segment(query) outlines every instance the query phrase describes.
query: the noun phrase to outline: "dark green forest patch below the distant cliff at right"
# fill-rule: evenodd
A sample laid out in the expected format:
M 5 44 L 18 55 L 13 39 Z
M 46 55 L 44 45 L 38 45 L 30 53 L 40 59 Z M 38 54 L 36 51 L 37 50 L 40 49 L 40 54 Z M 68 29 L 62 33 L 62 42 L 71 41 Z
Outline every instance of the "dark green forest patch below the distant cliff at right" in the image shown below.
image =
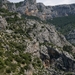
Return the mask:
M 75 29 L 75 15 L 53 18 L 51 20 L 47 20 L 47 22 L 54 24 L 57 30 L 64 35 Z

